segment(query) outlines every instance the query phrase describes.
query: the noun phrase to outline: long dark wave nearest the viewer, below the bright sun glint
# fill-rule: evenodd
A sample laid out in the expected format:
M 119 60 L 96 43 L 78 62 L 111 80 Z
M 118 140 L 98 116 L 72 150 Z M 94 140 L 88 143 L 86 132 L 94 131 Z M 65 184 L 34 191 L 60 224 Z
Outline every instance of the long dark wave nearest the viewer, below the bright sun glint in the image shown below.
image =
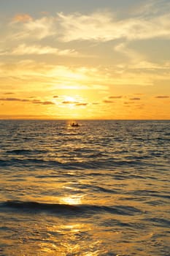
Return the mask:
M 138 208 L 132 206 L 96 206 L 96 205 L 69 205 L 61 203 L 38 203 L 34 201 L 9 200 L 0 203 L 0 208 L 15 209 L 25 213 L 38 213 L 47 211 L 53 214 L 118 214 L 133 216 L 141 213 Z

